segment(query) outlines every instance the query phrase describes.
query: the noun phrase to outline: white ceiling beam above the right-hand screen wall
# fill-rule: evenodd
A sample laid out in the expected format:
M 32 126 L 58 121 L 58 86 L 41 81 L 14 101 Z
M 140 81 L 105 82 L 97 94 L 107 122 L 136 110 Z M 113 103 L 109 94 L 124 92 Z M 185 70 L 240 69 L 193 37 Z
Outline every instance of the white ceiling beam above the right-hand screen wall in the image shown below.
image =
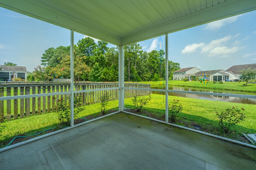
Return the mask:
M 122 45 L 143 41 L 166 33 L 180 31 L 253 10 L 256 10 L 256 0 L 228 0 L 215 6 L 204 8 L 198 12 L 122 37 Z

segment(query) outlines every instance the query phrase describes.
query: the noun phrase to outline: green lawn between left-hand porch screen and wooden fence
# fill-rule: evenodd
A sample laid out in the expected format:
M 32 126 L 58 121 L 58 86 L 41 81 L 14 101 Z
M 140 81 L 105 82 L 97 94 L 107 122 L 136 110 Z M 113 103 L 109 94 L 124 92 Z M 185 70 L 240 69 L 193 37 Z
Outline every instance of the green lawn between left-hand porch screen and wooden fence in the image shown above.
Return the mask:
M 87 117 L 87 120 L 89 120 L 101 115 L 100 103 L 82 107 L 84 110 L 78 114 L 78 117 Z M 110 101 L 108 103 L 107 110 L 118 111 L 118 100 Z M 33 135 L 54 127 L 56 130 L 58 130 L 60 129 L 58 123 L 57 112 L 40 114 L 12 121 L 5 121 L 4 123 L 0 124 L 1 126 L 5 126 L 0 129 L 2 131 L 0 133 L 1 148 L 5 147 L 16 136 Z M 43 134 L 44 133 L 41 135 Z

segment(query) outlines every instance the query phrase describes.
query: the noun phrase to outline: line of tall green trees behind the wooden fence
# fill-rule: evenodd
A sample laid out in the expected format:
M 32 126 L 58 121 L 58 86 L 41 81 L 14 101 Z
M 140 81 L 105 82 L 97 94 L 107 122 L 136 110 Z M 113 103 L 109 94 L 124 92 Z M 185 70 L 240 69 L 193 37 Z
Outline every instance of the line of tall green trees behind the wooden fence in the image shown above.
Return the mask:
M 30 81 L 51 81 L 53 78 L 70 78 L 70 46 L 49 48 L 42 54 L 41 65 L 27 76 Z M 164 51 L 142 50 L 138 43 L 124 46 L 124 80 L 158 81 L 165 79 Z M 168 61 L 169 80 L 172 72 L 180 69 L 179 63 Z M 108 47 L 105 41 L 95 43 L 86 37 L 74 45 L 74 79 L 76 81 L 118 81 L 118 49 Z

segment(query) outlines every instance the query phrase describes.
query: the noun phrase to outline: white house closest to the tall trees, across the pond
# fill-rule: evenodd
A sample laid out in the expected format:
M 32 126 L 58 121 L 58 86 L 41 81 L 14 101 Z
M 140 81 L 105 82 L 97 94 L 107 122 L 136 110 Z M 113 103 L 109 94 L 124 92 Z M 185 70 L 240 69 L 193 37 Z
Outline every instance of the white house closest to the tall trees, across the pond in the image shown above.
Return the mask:
M 173 80 L 183 80 L 185 77 L 191 80 L 191 75 L 201 71 L 196 67 L 180 68 L 172 73 Z

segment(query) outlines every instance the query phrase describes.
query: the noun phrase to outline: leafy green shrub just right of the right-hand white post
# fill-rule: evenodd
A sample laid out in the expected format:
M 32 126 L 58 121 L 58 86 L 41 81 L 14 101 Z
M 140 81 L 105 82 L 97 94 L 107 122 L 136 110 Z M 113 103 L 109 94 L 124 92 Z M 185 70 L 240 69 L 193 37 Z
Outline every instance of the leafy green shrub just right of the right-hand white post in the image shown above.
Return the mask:
M 178 100 L 173 100 L 172 104 L 168 105 L 169 122 L 175 123 L 178 113 L 182 111 L 183 107 Z

